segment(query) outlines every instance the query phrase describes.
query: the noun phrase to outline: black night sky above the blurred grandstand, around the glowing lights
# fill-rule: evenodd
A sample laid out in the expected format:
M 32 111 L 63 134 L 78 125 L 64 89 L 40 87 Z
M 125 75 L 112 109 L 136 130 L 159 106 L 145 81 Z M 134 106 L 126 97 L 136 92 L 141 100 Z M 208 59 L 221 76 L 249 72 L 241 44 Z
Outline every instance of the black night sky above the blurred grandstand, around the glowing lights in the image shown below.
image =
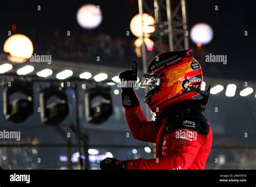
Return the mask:
M 76 21 L 80 6 L 93 3 L 103 12 L 102 24 L 95 30 L 84 30 Z M 41 5 L 41 11 L 37 10 Z M 218 11 L 214 6 L 218 5 Z M 212 26 L 214 38 L 203 46 L 206 53 L 227 55 L 227 64 L 206 64 L 205 73 L 212 77 L 228 77 L 241 80 L 255 80 L 255 1 L 187 1 L 188 28 L 199 22 Z M 40 38 L 58 28 L 66 31 L 110 34 L 111 37 L 126 37 L 130 20 L 138 13 L 138 4 L 130 1 L 1 1 L 0 2 L 0 46 L 1 51 L 11 25 L 17 25 L 17 33 L 29 38 Z M 248 36 L 244 36 L 248 31 Z M 130 37 L 131 40 L 134 37 Z M 190 47 L 195 45 L 190 41 Z M 35 46 L 36 52 L 36 46 Z M 130 59 L 129 59 L 130 60 Z M 126 63 L 126 62 L 125 62 Z M 204 62 L 201 62 L 204 63 Z M 120 66 L 120 64 L 117 64 Z M 212 67 L 211 67 L 212 66 Z

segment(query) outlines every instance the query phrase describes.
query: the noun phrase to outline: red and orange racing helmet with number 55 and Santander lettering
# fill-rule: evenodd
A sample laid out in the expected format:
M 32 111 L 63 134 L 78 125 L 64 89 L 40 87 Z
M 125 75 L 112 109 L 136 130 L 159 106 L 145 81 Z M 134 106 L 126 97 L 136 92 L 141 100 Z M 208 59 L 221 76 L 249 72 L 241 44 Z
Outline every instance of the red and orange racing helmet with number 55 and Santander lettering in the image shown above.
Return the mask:
M 149 87 L 144 103 L 153 112 L 159 112 L 172 104 L 195 100 L 199 93 L 208 100 L 210 87 L 207 92 L 200 90 L 202 83 L 200 63 L 192 56 L 192 49 L 188 49 L 154 57 L 147 73 L 143 75 L 140 87 Z

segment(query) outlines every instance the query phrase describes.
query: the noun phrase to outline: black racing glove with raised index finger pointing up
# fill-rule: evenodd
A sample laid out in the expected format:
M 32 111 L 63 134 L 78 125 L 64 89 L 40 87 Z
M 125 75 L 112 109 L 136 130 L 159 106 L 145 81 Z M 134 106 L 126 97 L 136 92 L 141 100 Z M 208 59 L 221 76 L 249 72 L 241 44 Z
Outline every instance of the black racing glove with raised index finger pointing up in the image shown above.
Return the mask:
M 138 64 L 132 61 L 132 70 L 125 70 L 119 74 L 122 87 L 122 103 L 124 107 L 132 108 L 139 106 L 139 100 L 133 88 L 138 77 Z

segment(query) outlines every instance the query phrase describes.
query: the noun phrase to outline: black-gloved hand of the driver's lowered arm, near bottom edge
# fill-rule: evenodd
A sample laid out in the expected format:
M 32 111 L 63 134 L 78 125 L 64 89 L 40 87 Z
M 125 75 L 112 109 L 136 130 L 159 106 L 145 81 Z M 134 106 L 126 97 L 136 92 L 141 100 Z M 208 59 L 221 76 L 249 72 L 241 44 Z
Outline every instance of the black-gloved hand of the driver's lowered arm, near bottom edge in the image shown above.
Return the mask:
M 126 161 L 120 161 L 117 159 L 107 157 L 100 163 L 100 169 L 102 169 L 102 170 L 126 170 Z

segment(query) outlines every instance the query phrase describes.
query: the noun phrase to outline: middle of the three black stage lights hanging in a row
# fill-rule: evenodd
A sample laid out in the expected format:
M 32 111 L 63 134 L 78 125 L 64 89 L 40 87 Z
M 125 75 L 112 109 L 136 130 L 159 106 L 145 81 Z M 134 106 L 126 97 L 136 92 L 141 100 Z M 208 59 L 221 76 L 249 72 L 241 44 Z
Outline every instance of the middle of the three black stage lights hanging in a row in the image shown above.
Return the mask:
M 50 87 L 40 90 L 39 102 L 43 124 L 59 125 L 68 116 L 69 105 L 65 91 L 65 88 L 56 85 L 50 85 Z M 53 99 L 55 102 L 52 102 Z

